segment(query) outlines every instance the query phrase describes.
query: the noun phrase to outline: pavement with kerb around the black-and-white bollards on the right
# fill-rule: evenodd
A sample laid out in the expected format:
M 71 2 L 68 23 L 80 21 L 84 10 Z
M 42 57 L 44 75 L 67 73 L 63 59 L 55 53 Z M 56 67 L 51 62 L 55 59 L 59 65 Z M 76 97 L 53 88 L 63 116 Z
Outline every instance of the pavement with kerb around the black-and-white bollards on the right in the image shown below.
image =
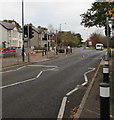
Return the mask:
M 96 73 L 74 115 L 75 120 L 100 120 L 100 88 L 103 81 L 102 69 L 104 60 L 101 61 Z M 110 119 L 114 119 L 114 50 L 110 59 Z

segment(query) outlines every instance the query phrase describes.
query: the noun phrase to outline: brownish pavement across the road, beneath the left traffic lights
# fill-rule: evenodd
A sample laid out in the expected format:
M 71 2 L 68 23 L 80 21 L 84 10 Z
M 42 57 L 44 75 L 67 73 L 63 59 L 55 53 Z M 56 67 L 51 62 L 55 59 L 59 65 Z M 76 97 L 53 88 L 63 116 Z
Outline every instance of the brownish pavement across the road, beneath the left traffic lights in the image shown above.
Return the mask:
M 22 56 L 1 58 L 2 60 L 0 61 L 2 61 L 2 71 L 6 71 L 15 67 L 21 67 L 27 64 L 33 64 L 41 61 L 55 59 L 57 57 L 62 57 L 65 55 L 66 53 L 58 53 L 58 55 L 56 55 L 54 51 L 50 51 L 46 55 L 44 54 L 43 56 L 42 53 L 30 54 L 29 58 L 27 55 L 24 57 L 24 62 L 22 61 Z

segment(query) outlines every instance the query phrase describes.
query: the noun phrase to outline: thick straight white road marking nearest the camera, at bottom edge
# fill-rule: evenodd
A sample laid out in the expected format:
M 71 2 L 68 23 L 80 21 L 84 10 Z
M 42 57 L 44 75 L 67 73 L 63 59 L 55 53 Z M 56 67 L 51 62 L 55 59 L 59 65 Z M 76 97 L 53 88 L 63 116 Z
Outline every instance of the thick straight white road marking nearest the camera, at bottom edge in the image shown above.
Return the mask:
M 62 100 L 62 104 L 61 104 L 61 108 L 59 110 L 57 120 L 62 120 L 63 115 L 64 115 L 64 111 L 65 111 L 66 102 L 67 102 L 67 97 L 64 97 Z

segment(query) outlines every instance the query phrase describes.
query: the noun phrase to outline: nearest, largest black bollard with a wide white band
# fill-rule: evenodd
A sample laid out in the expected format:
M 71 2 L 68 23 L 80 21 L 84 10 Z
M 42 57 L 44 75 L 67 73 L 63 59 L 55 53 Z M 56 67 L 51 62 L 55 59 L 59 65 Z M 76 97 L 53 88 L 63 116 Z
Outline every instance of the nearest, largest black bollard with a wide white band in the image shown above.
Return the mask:
M 110 120 L 110 88 L 108 83 L 100 83 L 100 120 Z

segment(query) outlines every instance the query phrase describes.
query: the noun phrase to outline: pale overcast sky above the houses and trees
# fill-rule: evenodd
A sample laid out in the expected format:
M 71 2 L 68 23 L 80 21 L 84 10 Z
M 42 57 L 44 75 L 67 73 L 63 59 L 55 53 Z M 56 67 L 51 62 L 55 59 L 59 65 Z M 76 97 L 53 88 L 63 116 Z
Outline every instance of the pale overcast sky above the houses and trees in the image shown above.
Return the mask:
M 81 14 L 86 13 L 95 0 L 23 0 L 24 24 L 48 28 L 51 24 L 55 30 L 80 33 L 87 38 L 93 33 L 103 33 L 102 29 L 84 28 L 80 25 Z M 22 0 L 0 0 L 0 20 L 10 19 L 22 25 Z

